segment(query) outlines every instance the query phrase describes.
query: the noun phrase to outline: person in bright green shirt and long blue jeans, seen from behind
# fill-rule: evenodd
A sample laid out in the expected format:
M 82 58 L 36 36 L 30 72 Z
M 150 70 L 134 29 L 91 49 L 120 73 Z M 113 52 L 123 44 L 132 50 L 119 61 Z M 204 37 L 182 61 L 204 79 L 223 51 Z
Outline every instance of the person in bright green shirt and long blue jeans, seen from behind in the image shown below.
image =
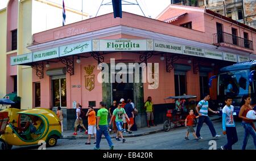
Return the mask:
M 106 107 L 106 104 L 103 101 L 101 101 L 100 109 L 97 112 L 97 132 L 96 132 L 97 138 L 96 138 L 96 147 L 94 147 L 94 150 L 100 150 L 100 142 L 101 142 L 102 134 L 104 134 L 106 140 L 108 141 L 110 150 L 114 149 L 114 145 L 111 141 L 111 138 L 108 132 L 109 111 L 105 107 Z

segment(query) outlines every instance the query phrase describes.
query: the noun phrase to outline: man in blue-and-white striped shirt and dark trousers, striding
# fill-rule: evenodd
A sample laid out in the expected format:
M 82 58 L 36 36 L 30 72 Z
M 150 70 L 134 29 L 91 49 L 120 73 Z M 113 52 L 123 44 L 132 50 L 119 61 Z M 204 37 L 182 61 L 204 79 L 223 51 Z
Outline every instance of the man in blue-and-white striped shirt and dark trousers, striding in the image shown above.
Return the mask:
M 199 139 L 203 139 L 200 136 L 200 130 L 205 122 L 209 126 L 210 132 L 212 133 L 213 138 L 220 137 L 220 135 L 216 135 L 216 130 L 213 127 L 212 121 L 210 121 L 210 118 L 208 117 L 208 111 L 213 112 L 213 113 L 218 113 L 218 111 L 213 111 L 210 109 L 208 106 L 208 100 L 210 100 L 210 95 L 209 94 L 204 94 L 204 99 L 201 100 L 197 106 L 196 106 L 196 111 L 199 114 L 199 121 L 196 127 L 196 136 Z

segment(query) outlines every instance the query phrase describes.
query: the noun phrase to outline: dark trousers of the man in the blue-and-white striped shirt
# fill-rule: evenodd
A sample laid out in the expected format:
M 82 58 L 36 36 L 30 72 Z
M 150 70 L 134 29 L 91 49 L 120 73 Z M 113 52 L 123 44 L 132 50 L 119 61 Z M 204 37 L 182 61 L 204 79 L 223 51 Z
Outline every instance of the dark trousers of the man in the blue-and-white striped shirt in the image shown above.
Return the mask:
M 209 126 L 210 132 L 212 133 L 212 137 L 216 136 L 216 131 L 213 127 L 212 121 L 210 121 L 210 118 L 208 116 L 200 116 L 199 117 L 199 121 L 197 123 L 197 127 L 196 127 L 196 136 L 200 137 L 200 130 L 203 126 L 203 124 L 207 124 Z

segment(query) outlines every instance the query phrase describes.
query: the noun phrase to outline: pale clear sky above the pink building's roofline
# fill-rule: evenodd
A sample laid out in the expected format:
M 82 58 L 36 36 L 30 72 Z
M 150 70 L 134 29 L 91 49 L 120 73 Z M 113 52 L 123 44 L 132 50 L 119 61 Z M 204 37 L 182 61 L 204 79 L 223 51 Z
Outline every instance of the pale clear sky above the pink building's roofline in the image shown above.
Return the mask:
M 6 7 L 8 0 L 0 0 L 0 10 Z M 62 5 L 62 0 L 48 0 Z M 136 0 L 125 0 L 128 2 L 137 3 Z M 168 5 L 170 5 L 171 0 L 137 0 L 141 6 L 144 14 L 151 18 L 156 18 L 161 11 L 163 11 Z M 75 9 L 83 10 L 83 12 L 88 13 L 91 16 L 96 16 L 96 13 L 101 5 L 102 0 L 64 0 L 65 6 Z M 112 2 L 111 0 L 104 0 L 104 3 Z M 125 2 L 123 2 L 125 3 Z M 81 7 L 83 6 L 83 7 Z M 123 5 L 122 10 L 126 12 L 131 12 L 133 14 L 142 15 L 141 9 L 138 5 Z M 112 6 L 101 6 L 98 15 L 107 14 L 113 12 Z

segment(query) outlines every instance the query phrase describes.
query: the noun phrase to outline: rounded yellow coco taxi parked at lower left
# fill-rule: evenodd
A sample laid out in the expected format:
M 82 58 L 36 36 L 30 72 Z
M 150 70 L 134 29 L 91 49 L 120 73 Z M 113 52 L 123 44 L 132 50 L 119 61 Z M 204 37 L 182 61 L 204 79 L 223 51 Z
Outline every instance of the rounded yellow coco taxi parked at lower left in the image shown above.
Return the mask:
M 22 111 L 9 108 L 1 112 L 9 113 L 9 124 L 0 135 L 2 149 L 11 149 L 13 145 L 38 145 L 44 142 L 48 147 L 52 147 L 61 137 L 60 120 L 49 109 L 34 108 Z

